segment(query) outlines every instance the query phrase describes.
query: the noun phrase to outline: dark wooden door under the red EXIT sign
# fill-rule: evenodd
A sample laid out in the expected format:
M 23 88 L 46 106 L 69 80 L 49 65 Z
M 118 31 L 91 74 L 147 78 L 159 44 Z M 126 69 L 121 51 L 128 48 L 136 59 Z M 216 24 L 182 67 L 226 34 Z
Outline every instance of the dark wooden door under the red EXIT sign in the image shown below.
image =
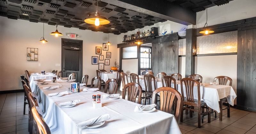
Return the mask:
M 62 77 L 75 73 L 76 82 L 81 82 L 83 74 L 83 41 L 61 39 Z

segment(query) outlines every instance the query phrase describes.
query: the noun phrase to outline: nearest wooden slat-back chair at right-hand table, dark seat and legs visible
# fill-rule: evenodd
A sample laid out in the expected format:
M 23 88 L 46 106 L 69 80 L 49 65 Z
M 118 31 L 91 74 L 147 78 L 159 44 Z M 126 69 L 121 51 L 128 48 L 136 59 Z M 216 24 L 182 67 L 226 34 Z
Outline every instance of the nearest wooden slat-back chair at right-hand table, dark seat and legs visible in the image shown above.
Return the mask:
M 194 99 L 194 84 L 197 84 L 197 100 Z M 206 103 L 204 101 L 201 101 L 201 95 L 200 95 L 200 83 L 196 79 L 192 78 L 182 78 L 180 80 L 180 86 L 181 86 L 181 94 L 183 97 L 183 104 L 185 105 L 183 109 L 190 110 L 189 114 L 190 117 L 192 117 L 192 111 L 198 112 L 198 128 L 201 128 L 201 115 L 208 114 L 208 123 L 211 123 L 211 108 L 207 107 Z M 183 84 L 185 86 L 185 90 L 183 90 Z M 184 97 L 184 91 L 186 94 L 186 98 Z M 194 107 L 197 107 L 197 109 L 194 109 Z M 204 109 L 201 111 L 202 108 L 207 108 L 206 112 L 204 112 Z M 183 111 L 183 110 L 182 110 Z M 181 114 L 180 121 L 183 120 L 183 114 Z M 203 122 L 203 120 L 202 120 Z

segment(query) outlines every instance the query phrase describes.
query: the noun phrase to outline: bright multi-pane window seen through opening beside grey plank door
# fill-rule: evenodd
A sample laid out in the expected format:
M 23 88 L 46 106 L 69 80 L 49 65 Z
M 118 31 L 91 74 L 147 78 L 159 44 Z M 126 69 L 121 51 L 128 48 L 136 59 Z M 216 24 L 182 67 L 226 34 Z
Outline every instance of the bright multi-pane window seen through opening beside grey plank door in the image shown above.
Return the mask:
M 140 48 L 140 69 L 151 69 L 151 47 Z

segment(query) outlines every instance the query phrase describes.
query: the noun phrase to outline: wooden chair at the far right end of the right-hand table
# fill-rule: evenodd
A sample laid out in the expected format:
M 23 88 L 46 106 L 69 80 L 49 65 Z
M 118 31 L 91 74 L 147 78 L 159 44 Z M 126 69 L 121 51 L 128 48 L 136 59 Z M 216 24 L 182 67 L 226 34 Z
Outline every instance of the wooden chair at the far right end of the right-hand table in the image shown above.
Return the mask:
M 216 80 L 218 80 L 220 85 L 227 85 L 227 83 L 229 82 L 229 86 L 232 86 L 232 79 L 227 76 L 215 77 L 213 82 L 216 82 Z M 228 106 L 225 108 L 222 108 L 223 103 L 225 103 L 225 102 L 227 102 L 226 104 Z M 228 103 L 228 99 L 225 97 L 225 98 L 220 99 L 219 105 L 220 105 L 220 121 L 222 121 L 222 110 L 228 109 L 228 117 L 230 117 L 230 104 Z

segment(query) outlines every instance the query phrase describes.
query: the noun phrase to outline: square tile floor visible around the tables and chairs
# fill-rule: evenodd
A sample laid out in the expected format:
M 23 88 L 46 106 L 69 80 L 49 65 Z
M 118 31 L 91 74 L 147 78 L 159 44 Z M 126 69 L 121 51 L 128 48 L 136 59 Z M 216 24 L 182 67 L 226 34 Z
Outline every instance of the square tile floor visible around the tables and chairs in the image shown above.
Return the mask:
M 28 134 L 28 105 L 26 115 L 23 115 L 24 93 L 0 94 L 0 134 Z M 227 110 L 223 111 L 222 122 L 211 115 L 211 123 L 207 123 L 207 116 L 201 128 L 197 128 L 196 112 L 193 117 L 183 115 L 183 122 L 179 124 L 182 134 L 256 134 L 256 112 L 231 108 L 230 118 Z

